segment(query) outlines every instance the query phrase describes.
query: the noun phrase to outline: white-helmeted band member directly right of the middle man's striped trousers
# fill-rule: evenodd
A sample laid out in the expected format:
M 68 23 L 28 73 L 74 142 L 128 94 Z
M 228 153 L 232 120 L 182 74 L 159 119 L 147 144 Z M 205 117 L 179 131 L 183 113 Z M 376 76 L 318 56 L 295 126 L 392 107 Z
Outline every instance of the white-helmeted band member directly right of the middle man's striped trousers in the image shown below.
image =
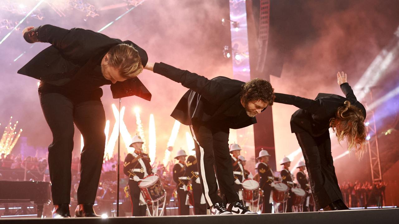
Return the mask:
M 241 147 L 238 144 L 230 145 L 231 163 L 233 163 L 233 175 L 234 175 L 234 189 L 238 193 L 238 197 L 243 202 L 243 187 L 241 183 L 245 180 L 244 178 L 244 167 L 241 164 L 241 159 L 238 158 L 240 155 Z M 242 203 L 244 204 L 244 203 Z

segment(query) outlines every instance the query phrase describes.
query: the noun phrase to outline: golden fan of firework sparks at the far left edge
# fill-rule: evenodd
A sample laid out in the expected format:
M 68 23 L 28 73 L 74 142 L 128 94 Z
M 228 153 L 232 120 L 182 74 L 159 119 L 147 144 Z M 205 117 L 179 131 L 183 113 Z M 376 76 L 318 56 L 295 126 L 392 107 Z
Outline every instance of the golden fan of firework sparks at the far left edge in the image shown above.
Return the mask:
M 18 133 L 15 131 L 18 121 L 16 121 L 14 125 L 12 125 L 11 121 L 12 117 L 10 117 L 10 120 L 7 123 L 8 125 L 4 128 L 3 136 L 0 139 L 0 153 L 6 155 L 11 153 L 22 132 L 22 129 L 20 129 Z

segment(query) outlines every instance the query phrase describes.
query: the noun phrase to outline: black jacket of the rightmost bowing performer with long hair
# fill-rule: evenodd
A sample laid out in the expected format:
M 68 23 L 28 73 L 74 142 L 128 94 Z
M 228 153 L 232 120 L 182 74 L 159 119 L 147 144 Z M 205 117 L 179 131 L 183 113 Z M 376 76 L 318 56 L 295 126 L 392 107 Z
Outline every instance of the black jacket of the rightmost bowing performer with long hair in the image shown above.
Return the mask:
M 338 107 L 349 102 L 359 108 L 366 116 L 364 106 L 356 99 L 352 88 L 348 83 L 341 84 L 341 90 L 346 97 L 336 94 L 319 93 L 315 100 L 292 96 L 288 94 L 275 93 L 277 103 L 291 104 L 298 108 L 291 116 L 291 132 L 308 132 L 312 136 L 321 136 L 330 128 L 330 119 L 335 117 Z

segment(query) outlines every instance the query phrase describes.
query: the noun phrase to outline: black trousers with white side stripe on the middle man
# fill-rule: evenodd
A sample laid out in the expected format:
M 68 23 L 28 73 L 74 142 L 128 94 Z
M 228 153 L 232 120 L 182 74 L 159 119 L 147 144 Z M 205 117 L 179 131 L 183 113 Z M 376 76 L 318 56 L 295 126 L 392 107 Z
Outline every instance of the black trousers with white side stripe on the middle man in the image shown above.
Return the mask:
M 207 208 L 217 202 L 223 202 L 217 195 L 216 177 L 225 200 L 229 203 L 239 201 L 234 189 L 233 164 L 229 153 L 229 128 L 193 124 L 190 129 L 194 138 L 199 178 Z

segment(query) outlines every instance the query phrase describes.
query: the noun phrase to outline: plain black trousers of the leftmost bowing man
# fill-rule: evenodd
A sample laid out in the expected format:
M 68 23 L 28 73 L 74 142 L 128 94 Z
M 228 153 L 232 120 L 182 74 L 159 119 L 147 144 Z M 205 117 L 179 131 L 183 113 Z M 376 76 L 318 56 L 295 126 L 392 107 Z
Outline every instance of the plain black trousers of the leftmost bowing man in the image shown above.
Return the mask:
M 53 204 L 69 204 L 74 126 L 83 135 L 78 204 L 93 203 L 105 149 L 105 112 L 98 100 L 75 103 L 59 93 L 40 94 L 44 118 L 53 134 L 49 145 L 49 171 Z

